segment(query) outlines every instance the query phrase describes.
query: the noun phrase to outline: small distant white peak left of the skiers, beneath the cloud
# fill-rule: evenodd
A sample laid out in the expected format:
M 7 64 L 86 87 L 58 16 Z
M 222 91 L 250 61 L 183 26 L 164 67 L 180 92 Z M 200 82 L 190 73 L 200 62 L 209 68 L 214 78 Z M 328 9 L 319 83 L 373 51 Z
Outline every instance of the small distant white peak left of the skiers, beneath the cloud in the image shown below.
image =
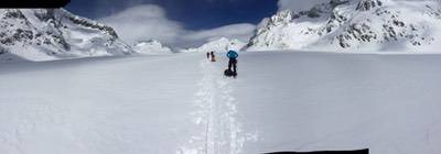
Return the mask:
M 140 54 L 171 54 L 173 50 L 155 40 L 139 41 L 133 50 Z

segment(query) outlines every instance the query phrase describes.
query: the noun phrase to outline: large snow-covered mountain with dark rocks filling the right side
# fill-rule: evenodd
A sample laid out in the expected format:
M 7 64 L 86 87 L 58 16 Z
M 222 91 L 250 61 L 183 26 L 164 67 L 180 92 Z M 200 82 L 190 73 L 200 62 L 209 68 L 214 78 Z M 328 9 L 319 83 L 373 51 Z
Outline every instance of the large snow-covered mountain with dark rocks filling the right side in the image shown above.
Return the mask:
M 265 19 L 248 51 L 435 51 L 440 1 L 330 0 Z

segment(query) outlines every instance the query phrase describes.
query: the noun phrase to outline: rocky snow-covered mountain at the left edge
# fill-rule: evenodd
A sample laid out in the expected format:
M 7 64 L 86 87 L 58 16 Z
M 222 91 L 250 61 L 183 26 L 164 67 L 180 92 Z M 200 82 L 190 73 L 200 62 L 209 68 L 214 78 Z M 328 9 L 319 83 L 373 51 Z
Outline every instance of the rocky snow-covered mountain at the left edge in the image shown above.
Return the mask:
M 133 54 L 110 26 L 64 9 L 0 9 L 0 62 Z

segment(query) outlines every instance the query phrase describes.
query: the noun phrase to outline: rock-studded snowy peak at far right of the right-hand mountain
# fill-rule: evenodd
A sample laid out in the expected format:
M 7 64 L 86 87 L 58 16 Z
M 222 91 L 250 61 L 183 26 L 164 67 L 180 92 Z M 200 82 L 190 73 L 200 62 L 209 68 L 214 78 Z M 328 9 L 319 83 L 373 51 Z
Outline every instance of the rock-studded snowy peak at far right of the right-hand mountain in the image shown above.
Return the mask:
M 406 4 L 413 4 L 422 10 L 406 8 Z M 440 20 L 428 18 L 423 8 L 424 1 L 385 3 L 380 0 L 362 0 L 357 6 L 357 10 L 362 12 L 346 15 L 346 19 L 352 20 L 346 20 L 334 31 L 327 30 L 331 32 L 327 38 L 343 48 L 377 44 L 380 48 L 395 46 L 408 51 L 430 46 L 441 38 L 438 34 L 428 34 L 429 31 L 441 29 Z

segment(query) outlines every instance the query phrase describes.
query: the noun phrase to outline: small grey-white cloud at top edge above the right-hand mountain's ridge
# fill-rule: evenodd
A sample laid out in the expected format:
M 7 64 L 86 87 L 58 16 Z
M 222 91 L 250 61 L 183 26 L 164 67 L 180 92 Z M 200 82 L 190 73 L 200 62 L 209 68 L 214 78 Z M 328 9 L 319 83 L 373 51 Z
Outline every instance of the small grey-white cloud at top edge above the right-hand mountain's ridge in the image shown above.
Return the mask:
M 311 9 L 312 7 L 314 7 L 314 4 L 329 1 L 330 0 L 279 0 L 278 6 L 279 11 L 286 9 L 302 11 Z

